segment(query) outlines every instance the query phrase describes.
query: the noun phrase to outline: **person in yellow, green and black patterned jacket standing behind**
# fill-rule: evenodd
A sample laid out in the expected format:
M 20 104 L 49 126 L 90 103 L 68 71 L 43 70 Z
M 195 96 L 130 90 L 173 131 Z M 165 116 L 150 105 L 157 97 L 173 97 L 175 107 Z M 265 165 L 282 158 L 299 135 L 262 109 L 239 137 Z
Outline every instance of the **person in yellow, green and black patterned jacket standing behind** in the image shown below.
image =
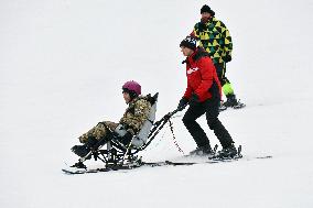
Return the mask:
M 223 92 L 227 100 L 220 110 L 228 107 L 242 108 L 244 103 L 237 100 L 229 79 L 226 77 L 226 63 L 231 61 L 233 42 L 228 29 L 215 18 L 215 12 L 208 7 L 201 9 L 201 22 L 194 25 L 191 36 L 198 40 L 199 46 L 208 52 L 217 72 L 218 79 L 223 86 Z

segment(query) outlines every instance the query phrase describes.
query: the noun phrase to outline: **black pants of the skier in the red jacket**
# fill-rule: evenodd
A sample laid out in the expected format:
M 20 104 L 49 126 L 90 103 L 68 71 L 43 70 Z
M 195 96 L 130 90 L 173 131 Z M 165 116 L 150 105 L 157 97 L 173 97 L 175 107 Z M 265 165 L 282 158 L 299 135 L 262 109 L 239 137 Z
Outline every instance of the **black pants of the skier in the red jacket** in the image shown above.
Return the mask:
M 204 113 L 206 113 L 206 121 L 209 129 L 214 131 L 214 134 L 219 140 L 222 146 L 225 149 L 234 143 L 230 134 L 218 120 L 219 105 L 220 103 L 218 98 L 212 98 L 204 102 L 198 102 L 196 105 L 190 106 L 186 113 L 184 114 L 183 122 L 195 140 L 197 146 L 209 145 L 207 135 L 199 127 L 199 124 L 195 121 Z

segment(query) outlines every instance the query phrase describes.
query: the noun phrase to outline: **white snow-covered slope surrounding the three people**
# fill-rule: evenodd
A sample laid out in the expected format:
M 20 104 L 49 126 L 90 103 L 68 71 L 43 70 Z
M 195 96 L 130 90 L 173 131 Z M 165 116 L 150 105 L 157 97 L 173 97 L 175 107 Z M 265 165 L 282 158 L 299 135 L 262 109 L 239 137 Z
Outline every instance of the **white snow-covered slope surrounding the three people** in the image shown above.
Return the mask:
M 247 107 L 219 118 L 245 158 L 63 174 L 82 133 L 122 116 L 125 81 L 160 92 L 158 119 L 175 109 L 186 87 L 179 44 L 204 3 L 233 36 L 227 77 Z M 312 11 L 311 0 L 1 0 L 0 207 L 313 207 Z M 173 122 L 183 151 L 195 149 Z M 141 154 L 183 156 L 168 125 Z

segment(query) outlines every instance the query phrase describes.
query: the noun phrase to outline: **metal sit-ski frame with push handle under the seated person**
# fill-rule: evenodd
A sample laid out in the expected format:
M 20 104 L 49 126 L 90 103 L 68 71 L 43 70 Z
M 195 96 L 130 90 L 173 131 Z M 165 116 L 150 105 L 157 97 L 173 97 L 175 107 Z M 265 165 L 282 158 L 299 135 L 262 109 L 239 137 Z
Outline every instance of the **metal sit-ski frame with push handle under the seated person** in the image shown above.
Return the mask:
M 153 107 L 153 105 L 156 105 L 158 94 L 155 94 L 152 98 L 153 101 L 151 105 Z M 180 109 L 169 112 L 161 120 L 154 123 L 148 118 L 145 122 L 150 122 L 150 131 L 148 136 L 143 139 L 144 142 L 141 145 L 134 145 L 134 140 L 138 140 L 138 135 L 134 135 L 131 142 L 128 145 L 125 145 L 121 142 L 121 136 L 106 127 L 108 134 L 102 140 L 100 140 L 96 147 L 94 147 L 86 156 L 80 157 L 78 162 L 73 165 L 73 167 L 87 169 L 84 162 L 91 157 L 94 157 L 95 161 L 100 160 L 101 162 L 104 162 L 106 167 L 118 166 L 120 168 L 121 166 L 129 167 L 140 165 L 141 158 L 138 157 L 137 153 L 143 151 L 144 149 L 147 149 L 147 146 L 149 146 L 149 144 L 154 140 L 160 130 L 163 129 L 163 127 L 170 121 L 171 117 L 177 111 L 180 111 Z M 102 149 L 104 146 L 106 146 L 106 149 Z

